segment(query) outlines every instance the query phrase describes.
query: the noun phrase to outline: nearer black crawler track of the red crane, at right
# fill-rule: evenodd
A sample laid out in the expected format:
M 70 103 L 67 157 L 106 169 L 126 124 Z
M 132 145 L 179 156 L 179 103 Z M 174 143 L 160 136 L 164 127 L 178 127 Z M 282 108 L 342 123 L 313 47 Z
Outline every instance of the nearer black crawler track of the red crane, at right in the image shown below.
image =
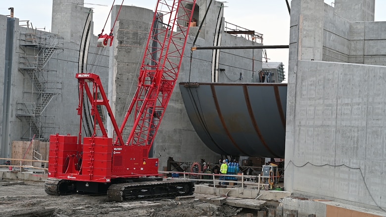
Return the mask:
M 192 195 L 194 184 L 184 180 L 163 180 L 113 184 L 107 190 L 109 201 L 138 201 Z

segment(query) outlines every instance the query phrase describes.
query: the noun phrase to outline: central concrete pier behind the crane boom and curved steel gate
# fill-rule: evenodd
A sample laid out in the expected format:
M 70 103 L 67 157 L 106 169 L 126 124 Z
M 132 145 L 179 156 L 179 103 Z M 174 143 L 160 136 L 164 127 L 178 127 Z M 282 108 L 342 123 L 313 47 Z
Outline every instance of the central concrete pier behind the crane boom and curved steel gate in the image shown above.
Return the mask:
M 199 12 L 198 25 L 202 22 L 203 15 L 209 0 L 198 0 Z M 220 2 L 213 2 L 206 20 L 203 21 L 203 29 L 195 45 L 257 45 L 241 37 L 225 34 L 223 20 L 223 7 L 218 7 Z M 217 6 L 216 6 L 217 5 Z M 198 7 L 196 7 L 198 8 Z M 115 6 L 112 17 L 115 17 L 119 8 Z M 143 49 L 148 37 L 153 12 L 148 9 L 123 6 L 115 26 L 114 48 L 110 51 L 110 78 L 109 97 L 112 99 L 112 107 L 117 122 L 122 122 L 127 108 L 133 98 L 138 85 L 139 67 L 142 63 Z M 218 22 L 217 18 L 220 17 Z M 251 82 L 252 50 L 196 50 L 193 52 L 192 66 L 190 61 L 190 47 L 198 31 L 192 27 L 190 37 L 186 45 L 183 62 L 180 68 L 178 82 L 211 82 L 214 78 L 219 83 Z M 219 43 L 215 35 L 220 34 Z M 215 44 L 214 44 L 215 43 Z M 215 54 L 219 58 L 214 58 Z M 261 69 L 261 50 L 255 50 L 255 71 Z M 217 62 L 218 64 L 215 64 Z M 218 68 L 224 68 L 219 72 Z M 240 73 L 242 77 L 240 80 Z M 255 79 L 256 80 L 256 79 Z M 130 128 L 130 120 L 128 129 Z M 111 130 L 110 126 L 110 132 Z M 129 130 L 125 130 L 124 139 L 128 137 Z M 166 166 L 168 157 L 175 161 L 194 162 L 205 159 L 207 162 L 217 162 L 220 155 L 207 148 L 197 136 L 186 114 L 179 88 L 174 88 L 162 124 L 159 127 L 153 144 L 153 157 L 158 157 L 160 169 Z

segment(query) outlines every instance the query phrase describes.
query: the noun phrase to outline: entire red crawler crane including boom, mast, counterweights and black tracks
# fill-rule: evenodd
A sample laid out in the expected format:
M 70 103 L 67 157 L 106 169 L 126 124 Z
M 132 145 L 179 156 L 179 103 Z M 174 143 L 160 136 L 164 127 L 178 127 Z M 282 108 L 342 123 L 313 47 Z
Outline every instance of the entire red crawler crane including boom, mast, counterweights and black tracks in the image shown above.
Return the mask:
M 193 194 L 193 182 L 162 180 L 162 174 L 158 173 L 158 159 L 148 157 L 177 82 L 190 28 L 187 24 L 192 21 L 195 6 L 195 0 L 170 2 L 157 0 L 138 87 L 120 127 L 99 76 L 94 73 L 76 74 L 79 83 L 79 134 L 50 136 L 49 178 L 45 185 L 48 194 L 107 193 L 110 201 Z M 163 23 L 165 20 L 169 22 Z M 98 43 L 110 45 L 106 39 L 113 38 L 110 34 Z M 103 123 L 102 106 L 114 130 L 112 138 L 108 137 Z M 91 114 L 93 123 L 89 136 L 84 136 L 89 131 L 82 121 L 85 110 Z M 128 139 L 124 141 L 123 131 L 129 116 L 134 117 L 134 122 Z

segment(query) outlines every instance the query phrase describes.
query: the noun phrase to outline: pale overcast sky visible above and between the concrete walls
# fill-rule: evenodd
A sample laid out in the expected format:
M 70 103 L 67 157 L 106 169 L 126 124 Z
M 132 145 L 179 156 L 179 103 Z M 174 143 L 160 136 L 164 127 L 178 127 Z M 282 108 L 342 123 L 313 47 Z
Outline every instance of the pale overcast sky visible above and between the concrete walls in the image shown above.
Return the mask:
M 224 8 L 225 21 L 254 30 L 263 34 L 264 45 L 289 44 L 290 15 L 286 0 L 227 0 Z M 334 0 L 324 0 L 332 4 Z M 106 21 L 113 0 L 84 0 L 86 7 L 94 9 L 95 35 L 100 33 Z M 115 4 L 121 4 L 116 0 Z M 156 0 L 125 0 L 124 5 L 134 5 L 155 9 Z M 99 5 L 98 5 L 99 4 Z M 103 6 L 107 5 L 107 6 Z M 9 15 L 8 7 L 14 8 L 14 17 L 29 20 L 35 28 L 51 30 L 52 0 L 12 0 L 4 1 L 0 14 Z M 375 20 L 386 21 L 386 0 L 376 0 Z M 108 22 L 109 24 L 110 22 Z M 22 24 L 22 23 L 20 23 Z M 105 28 L 109 30 L 109 27 Z M 283 62 L 288 71 L 288 49 L 268 49 L 267 56 L 271 62 Z M 286 76 L 287 77 L 287 76 Z

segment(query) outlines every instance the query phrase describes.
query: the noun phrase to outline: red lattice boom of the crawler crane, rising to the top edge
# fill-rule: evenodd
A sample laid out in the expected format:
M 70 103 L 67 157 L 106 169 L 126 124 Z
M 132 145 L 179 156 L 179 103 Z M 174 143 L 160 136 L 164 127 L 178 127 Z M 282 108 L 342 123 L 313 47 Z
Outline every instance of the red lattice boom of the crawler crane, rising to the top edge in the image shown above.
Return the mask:
M 192 7 L 188 9 L 185 5 Z M 174 0 L 171 5 L 166 0 L 157 1 L 139 85 L 120 128 L 122 134 L 134 113 L 134 126 L 126 144 L 148 145 L 149 150 L 153 143 L 178 79 L 194 5 L 195 0 Z M 167 24 L 162 22 L 164 19 L 168 19 Z

